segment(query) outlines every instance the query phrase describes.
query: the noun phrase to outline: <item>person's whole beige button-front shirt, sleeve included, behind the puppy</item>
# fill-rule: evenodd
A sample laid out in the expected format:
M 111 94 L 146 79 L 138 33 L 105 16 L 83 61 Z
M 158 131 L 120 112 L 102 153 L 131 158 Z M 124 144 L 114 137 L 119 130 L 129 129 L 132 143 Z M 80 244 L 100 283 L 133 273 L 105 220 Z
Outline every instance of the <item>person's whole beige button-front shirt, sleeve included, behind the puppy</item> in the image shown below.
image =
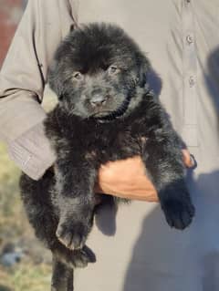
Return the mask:
M 218 291 L 219 0 L 30 0 L 0 75 L 2 140 L 34 179 L 53 163 L 40 106 L 47 66 L 70 25 L 93 21 L 122 26 L 151 59 L 151 88 L 198 163 L 188 171 L 196 216 L 179 232 L 157 204 L 121 207 L 114 235 L 99 223 L 90 234 L 98 262 L 76 272 L 76 290 Z

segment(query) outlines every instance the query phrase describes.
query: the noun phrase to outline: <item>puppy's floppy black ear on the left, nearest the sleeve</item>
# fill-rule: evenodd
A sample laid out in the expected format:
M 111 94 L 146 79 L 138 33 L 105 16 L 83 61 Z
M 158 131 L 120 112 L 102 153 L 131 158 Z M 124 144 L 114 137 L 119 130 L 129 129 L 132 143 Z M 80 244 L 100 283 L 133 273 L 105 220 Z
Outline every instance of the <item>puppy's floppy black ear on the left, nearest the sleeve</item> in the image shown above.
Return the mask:
M 59 64 L 57 59 L 53 59 L 51 65 L 48 68 L 48 85 L 57 94 L 57 98 L 62 99 L 63 84 L 60 80 Z

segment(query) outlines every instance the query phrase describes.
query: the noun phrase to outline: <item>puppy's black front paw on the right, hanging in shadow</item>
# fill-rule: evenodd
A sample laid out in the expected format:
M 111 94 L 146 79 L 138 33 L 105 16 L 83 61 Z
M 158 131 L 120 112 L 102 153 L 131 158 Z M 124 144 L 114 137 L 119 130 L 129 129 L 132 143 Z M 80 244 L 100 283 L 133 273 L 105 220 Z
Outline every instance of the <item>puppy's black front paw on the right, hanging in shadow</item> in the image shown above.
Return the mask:
M 161 203 L 166 221 L 171 227 L 183 230 L 192 223 L 194 206 L 187 190 L 169 192 Z

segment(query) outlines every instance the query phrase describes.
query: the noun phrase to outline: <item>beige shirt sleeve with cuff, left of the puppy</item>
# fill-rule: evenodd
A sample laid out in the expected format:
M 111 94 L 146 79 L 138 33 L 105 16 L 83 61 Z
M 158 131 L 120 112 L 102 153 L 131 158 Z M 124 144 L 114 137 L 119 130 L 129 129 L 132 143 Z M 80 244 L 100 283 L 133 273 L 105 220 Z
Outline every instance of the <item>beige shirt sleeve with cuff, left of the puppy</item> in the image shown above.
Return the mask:
M 41 107 L 47 68 L 75 25 L 68 0 L 28 1 L 0 72 L 0 140 L 22 171 L 37 180 L 55 161 Z

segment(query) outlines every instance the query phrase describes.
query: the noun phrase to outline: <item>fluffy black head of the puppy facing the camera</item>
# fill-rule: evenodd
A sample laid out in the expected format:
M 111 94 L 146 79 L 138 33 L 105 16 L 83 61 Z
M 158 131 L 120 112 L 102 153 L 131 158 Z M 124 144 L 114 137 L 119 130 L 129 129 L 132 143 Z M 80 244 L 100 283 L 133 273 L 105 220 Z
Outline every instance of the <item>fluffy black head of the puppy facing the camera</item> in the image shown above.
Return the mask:
M 149 67 L 118 26 L 91 24 L 72 30 L 57 48 L 48 80 L 69 114 L 113 119 L 139 104 Z

